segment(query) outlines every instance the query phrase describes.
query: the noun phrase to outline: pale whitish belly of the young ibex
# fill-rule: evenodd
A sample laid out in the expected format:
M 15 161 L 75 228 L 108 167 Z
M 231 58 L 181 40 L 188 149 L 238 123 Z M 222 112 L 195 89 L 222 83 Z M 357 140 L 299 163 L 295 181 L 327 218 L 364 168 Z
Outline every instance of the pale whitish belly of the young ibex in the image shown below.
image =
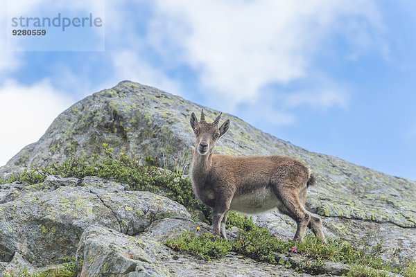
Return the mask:
M 240 195 L 232 199 L 230 210 L 243 213 L 263 213 L 273 208 L 286 210 L 284 205 L 277 199 L 272 188 L 261 188 L 247 195 Z

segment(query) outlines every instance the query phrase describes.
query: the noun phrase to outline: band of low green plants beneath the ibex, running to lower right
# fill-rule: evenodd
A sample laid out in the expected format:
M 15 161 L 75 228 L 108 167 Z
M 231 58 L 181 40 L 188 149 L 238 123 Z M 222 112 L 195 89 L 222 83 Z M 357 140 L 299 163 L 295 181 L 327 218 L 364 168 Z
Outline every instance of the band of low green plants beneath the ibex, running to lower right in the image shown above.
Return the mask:
M 401 267 L 392 267 L 389 262 L 381 260 L 383 247 L 381 242 L 370 246 L 369 244 L 351 244 L 349 242 L 328 238 L 327 244 L 322 244 L 314 235 L 306 235 L 302 243 L 284 242 L 266 229 L 257 227 L 251 219 L 238 213 L 229 213 L 227 226 L 238 226 L 239 237 L 229 240 L 231 249 L 243 256 L 254 260 L 270 262 L 272 264 L 291 267 L 300 272 L 313 272 L 313 268 L 324 265 L 326 260 L 344 263 L 350 266 L 348 276 L 385 276 L 385 271 L 395 272 L 406 277 L 416 276 L 416 261 L 408 262 Z M 250 223 L 251 222 L 251 223 Z M 209 234 L 212 238 L 212 235 Z M 212 238 L 214 240 L 214 238 Z M 218 238 L 218 240 L 220 240 Z M 173 249 L 182 252 L 203 255 L 205 249 L 205 238 L 198 237 L 193 233 L 186 233 L 175 242 L 167 242 Z M 191 250 L 190 250 L 191 249 Z M 225 251 L 225 249 L 223 249 Z M 395 251 L 396 253 L 397 251 Z M 290 262 L 277 258 L 278 254 L 300 255 L 307 258 L 298 265 L 291 265 Z M 223 253 L 224 256 L 225 253 Z M 220 258 L 221 256 L 209 256 Z

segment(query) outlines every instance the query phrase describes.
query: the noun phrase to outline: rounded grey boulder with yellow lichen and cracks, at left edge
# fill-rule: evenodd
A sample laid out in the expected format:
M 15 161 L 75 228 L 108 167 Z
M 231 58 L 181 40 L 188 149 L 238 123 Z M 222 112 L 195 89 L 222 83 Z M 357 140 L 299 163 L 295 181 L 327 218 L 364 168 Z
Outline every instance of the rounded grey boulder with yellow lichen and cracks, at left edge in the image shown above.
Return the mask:
M 8 187 L 6 193 L 16 186 Z M 0 204 L 1 261 L 21 253 L 36 266 L 62 262 L 75 255 L 80 235 L 93 224 L 135 234 L 163 217 L 190 217 L 184 206 L 166 197 L 125 191 L 119 183 L 96 177 L 50 177 L 24 188 L 31 189 Z

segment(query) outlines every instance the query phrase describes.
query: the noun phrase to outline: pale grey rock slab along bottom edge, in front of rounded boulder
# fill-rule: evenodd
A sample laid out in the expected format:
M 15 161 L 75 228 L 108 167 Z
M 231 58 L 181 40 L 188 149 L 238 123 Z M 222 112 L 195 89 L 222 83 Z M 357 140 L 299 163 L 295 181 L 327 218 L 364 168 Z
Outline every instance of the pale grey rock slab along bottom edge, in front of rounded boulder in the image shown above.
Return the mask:
M 166 229 L 160 222 L 153 226 L 153 233 L 163 233 L 162 230 Z M 83 233 L 76 267 L 78 277 L 311 276 L 233 253 L 220 260 L 197 260 L 171 251 L 148 235 L 131 237 L 99 226 L 91 226 Z

